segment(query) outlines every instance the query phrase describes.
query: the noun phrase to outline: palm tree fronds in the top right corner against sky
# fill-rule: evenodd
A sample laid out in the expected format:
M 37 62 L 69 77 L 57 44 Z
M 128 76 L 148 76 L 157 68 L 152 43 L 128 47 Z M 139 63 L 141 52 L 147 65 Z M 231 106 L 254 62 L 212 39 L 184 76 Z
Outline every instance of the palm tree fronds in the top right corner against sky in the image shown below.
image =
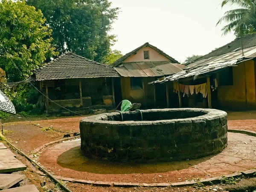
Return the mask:
M 225 5 L 236 5 L 239 9 L 225 12 L 218 20 L 216 26 L 223 22 L 228 23 L 221 29 L 223 35 L 227 35 L 232 30 L 237 37 L 256 32 L 256 0 L 223 0 L 221 7 Z

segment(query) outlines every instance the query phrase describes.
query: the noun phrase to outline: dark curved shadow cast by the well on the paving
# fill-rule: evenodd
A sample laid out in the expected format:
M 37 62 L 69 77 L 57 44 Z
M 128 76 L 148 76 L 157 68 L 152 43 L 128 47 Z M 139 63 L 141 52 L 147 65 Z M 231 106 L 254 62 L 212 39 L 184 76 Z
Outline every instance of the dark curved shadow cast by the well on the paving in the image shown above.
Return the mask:
M 117 163 L 92 160 L 84 157 L 81 154 L 80 146 L 76 146 L 62 153 L 58 157 L 57 163 L 64 168 L 79 172 L 90 172 L 96 174 L 147 174 L 186 169 L 209 160 L 211 157 L 213 156 L 204 157 L 198 160 L 173 161 L 169 163 Z

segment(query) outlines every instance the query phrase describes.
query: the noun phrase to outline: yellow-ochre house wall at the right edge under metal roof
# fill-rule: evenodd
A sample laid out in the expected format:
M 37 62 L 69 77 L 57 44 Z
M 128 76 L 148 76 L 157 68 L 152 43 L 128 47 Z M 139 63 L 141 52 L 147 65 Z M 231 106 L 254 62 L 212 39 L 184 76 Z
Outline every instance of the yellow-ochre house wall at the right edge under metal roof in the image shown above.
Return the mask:
M 233 67 L 233 85 L 219 86 L 218 104 L 220 108 L 256 109 L 255 64 L 245 61 Z M 219 79 L 219 73 L 217 73 Z

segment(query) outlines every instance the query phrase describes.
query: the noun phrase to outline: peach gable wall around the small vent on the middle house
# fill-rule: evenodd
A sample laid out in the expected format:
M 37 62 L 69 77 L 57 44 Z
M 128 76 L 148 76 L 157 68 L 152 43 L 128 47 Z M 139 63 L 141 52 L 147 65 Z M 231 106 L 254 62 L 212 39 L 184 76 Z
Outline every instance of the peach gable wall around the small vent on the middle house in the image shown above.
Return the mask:
M 144 51 L 149 51 L 149 59 L 144 59 Z M 161 54 L 158 54 L 154 49 L 150 47 L 141 48 L 136 55 L 131 55 L 123 63 L 127 62 L 139 62 L 139 61 L 170 61 L 168 58 Z

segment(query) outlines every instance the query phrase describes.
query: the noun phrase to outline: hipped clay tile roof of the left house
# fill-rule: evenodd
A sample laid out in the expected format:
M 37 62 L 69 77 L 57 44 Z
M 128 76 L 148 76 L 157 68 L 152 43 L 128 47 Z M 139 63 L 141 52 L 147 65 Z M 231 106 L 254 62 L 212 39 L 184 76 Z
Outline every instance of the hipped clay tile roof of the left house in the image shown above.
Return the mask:
M 73 52 L 65 52 L 35 70 L 36 81 L 98 77 L 119 77 L 119 74 L 112 67 L 83 58 Z

